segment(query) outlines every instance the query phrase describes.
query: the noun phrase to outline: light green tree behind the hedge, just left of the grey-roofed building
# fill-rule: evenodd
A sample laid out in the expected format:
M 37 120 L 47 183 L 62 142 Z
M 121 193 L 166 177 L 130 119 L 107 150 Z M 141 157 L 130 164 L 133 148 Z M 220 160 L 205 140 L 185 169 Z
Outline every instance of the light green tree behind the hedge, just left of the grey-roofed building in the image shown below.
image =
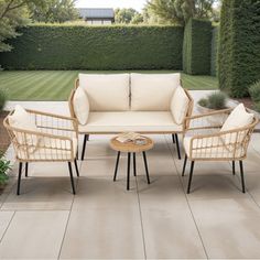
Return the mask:
M 31 19 L 35 22 L 63 23 L 79 18 L 75 0 L 46 0 L 44 6 L 30 4 Z

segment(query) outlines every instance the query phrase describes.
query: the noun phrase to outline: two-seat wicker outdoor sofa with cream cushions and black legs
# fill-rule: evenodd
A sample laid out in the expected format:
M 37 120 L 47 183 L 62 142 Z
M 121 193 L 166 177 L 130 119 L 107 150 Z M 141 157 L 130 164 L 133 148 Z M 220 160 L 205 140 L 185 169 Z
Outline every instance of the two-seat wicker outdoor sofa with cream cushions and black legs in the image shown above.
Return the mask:
M 89 134 L 127 131 L 172 134 L 181 159 L 177 134 L 187 127 L 193 99 L 180 73 L 79 74 L 68 102 L 84 134 L 82 160 Z

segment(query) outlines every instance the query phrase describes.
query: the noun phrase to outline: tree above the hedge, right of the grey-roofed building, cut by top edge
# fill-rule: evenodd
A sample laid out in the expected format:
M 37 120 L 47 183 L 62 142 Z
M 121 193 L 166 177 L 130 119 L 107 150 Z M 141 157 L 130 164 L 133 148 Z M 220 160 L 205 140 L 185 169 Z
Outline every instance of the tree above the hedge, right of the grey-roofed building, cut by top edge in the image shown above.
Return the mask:
M 164 22 L 185 24 L 189 18 L 208 19 L 216 0 L 150 0 L 149 9 Z

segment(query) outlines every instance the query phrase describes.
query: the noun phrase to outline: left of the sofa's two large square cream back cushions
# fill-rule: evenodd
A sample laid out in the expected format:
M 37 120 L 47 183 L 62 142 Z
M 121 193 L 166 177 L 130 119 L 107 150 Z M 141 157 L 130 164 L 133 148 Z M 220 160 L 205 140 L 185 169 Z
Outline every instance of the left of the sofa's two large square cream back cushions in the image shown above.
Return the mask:
M 79 74 L 90 111 L 129 110 L 129 74 Z

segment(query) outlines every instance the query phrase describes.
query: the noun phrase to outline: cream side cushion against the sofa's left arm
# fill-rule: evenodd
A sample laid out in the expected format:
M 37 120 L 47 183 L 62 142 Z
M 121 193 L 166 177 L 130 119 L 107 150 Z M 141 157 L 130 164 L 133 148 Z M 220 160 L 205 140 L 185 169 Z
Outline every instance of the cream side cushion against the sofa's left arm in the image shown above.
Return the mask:
M 83 90 L 82 87 L 78 87 L 74 94 L 73 107 L 78 122 L 80 124 L 87 123 L 89 115 L 89 102 L 87 94 Z

